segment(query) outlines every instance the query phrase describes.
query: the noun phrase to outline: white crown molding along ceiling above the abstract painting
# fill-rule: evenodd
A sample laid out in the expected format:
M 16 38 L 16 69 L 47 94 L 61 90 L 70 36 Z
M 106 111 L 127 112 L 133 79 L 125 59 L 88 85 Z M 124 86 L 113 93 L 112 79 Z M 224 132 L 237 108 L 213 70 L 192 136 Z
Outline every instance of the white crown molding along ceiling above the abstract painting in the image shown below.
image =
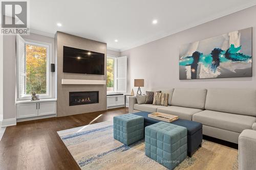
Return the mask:
M 135 47 L 138 47 L 138 46 L 141 46 L 141 45 L 144 45 L 144 44 L 147 44 L 147 43 L 150 43 L 150 42 L 153 42 L 153 41 L 156 41 L 156 40 L 159 40 L 161 38 L 164 38 L 164 37 L 167 37 L 167 36 L 170 36 L 170 35 L 173 35 L 173 34 L 176 34 L 176 33 L 179 33 L 179 32 L 182 32 L 182 31 L 185 31 L 185 30 L 188 30 L 190 28 L 193 28 L 193 27 L 197 27 L 199 25 L 202 25 L 203 23 L 207 23 L 209 21 L 212 21 L 212 20 L 215 20 L 215 19 L 218 19 L 218 18 L 221 18 L 221 17 L 224 17 L 224 16 L 227 16 L 227 15 L 230 15 L 232 13 L 236 13 L 236 12 L 239 12 L 239 11 L 242 11 L 244 9 L 247 9 L 247 8 L 250 8 L 250 7 L 253 7 L 255 6 L 256 3 L 255 2 L 251 2 L 251 3 L 247 3 L 245 4 L 244 6 L 241 6 L 239 8 L 233 8 L 233 9 L 226 9 L 224 12 L 222 13 L 218 13 L 216 15 L 213 15 L 213 16 L 210 16 L 204 20 L 200 20 L 200 21 L 197 21 L 197 22 L 194 22 L 194 23 L 191 23 L 190 25 L 186 26 L 186 27 L 183 27 L 183 28 L 180 28 L 180 29 L 176 29 L 176 30 L 172 30 L 172 31 L 169 31 L 169 32 L 164 32 L 164 33 L 160 33 L 160 34 L 155 34 L 153 35 L 152 37 L 150 38 L 146 38 L 142 41 L 138 41 L 136 43 L 133 43 L 129 46 L 126 46 L 124 48 L 121 48 L 120 49 L 120 52 L 124 52 L 124 51 L 127 51 L 127 50 L 131 50 L 132 48 L 135 48 Z

